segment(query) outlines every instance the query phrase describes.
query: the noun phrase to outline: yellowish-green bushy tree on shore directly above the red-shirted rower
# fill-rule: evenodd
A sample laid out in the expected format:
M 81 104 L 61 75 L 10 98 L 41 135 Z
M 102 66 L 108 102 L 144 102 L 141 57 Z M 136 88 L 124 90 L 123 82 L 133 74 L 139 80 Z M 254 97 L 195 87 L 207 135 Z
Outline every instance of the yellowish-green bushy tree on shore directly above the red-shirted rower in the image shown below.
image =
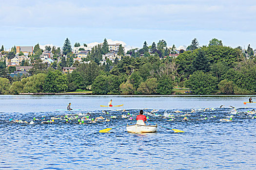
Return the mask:
M 137 91 L 141 94 L 157 94 L 158 80 L 157 78 L 147 79 L 145 82 L 142 82 Z

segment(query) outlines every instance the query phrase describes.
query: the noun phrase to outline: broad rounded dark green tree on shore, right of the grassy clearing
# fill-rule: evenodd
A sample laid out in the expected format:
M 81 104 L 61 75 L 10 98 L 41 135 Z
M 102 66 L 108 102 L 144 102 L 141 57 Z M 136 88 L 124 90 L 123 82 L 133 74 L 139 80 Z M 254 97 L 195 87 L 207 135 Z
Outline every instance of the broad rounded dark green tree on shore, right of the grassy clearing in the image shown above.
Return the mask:
M 196 71 L 185 82 L 185 86 L 195 94 L 212 94 L 217 86 L 217 79 L 203 71 Z

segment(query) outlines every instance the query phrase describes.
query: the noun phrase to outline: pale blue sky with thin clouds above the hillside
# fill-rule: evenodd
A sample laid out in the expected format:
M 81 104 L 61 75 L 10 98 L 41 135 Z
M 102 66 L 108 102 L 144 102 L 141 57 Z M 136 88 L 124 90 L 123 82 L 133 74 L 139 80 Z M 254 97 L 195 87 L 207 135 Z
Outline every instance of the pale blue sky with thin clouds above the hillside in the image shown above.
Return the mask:
M 165 39 L 188 46 L 217 38 L 256 48 L 255 0 L 1 0 L 0 45 L 62 46 L 104 38 L 141 47 Z

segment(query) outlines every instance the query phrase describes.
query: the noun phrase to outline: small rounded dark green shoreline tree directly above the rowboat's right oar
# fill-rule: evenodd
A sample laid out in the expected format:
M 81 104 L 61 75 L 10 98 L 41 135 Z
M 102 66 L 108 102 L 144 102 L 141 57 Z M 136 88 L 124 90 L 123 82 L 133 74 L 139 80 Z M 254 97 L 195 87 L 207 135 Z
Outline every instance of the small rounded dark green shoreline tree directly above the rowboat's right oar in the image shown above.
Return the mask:
M 172 94 L 174 82 L 170 77 L 163 76 L 158 80 L 157 93 L 161 95 Z

